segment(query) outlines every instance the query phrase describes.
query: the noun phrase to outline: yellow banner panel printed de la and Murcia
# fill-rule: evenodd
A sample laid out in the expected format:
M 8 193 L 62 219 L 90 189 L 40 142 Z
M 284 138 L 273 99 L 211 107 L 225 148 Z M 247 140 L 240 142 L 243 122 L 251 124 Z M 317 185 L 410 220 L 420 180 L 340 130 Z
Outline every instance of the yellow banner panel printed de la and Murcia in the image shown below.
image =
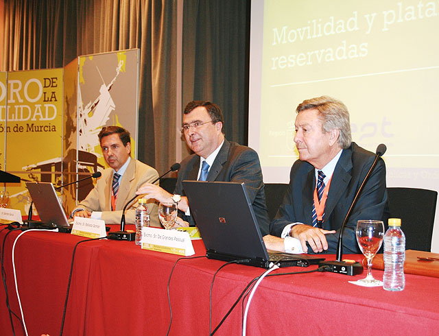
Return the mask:
M 56 173 L 62 163 L 62 75 L 62 69 L 10 72 L 5 104 L 0 101 L 5 169 L 26 180 L 53 182 L 55 187 L 62 184 Z M 9 207 L 27 213 L 25 184 L 8 184 L 7 190 Z

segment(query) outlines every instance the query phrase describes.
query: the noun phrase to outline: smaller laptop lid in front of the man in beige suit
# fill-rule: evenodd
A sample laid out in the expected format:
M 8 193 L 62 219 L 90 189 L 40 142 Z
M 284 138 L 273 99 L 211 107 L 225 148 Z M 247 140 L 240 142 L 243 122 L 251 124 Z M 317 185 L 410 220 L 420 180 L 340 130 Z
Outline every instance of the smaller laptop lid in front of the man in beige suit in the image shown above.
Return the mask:
M 43 224 L 57 228 L 70 227 L 53 184 L 50 182 L 26 182 L 26 187 Z

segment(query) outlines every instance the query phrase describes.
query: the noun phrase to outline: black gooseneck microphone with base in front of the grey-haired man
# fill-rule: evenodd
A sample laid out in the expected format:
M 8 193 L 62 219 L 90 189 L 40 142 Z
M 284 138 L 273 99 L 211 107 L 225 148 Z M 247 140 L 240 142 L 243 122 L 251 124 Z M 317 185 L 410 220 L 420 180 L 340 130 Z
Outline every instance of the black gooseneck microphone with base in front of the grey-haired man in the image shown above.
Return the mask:
M 373 169 L 377 165 L 378 159 L 384 155 L 386 150 L 387 150 L 387 147 L 385 147 L 385 145 L 383 143 L 378 145 L 377 151 L 375 152 L 375 160 L 373 161 L 372 166 L 370 166 L 370 169 L 369 169 L 368 173 L 366 174 L 366 176 L 364 177 L 363 182 L 359 186 L 357 194 L 355 195 L 354 200 L 352 201 L 351 207 L 349 208 L 348 213 L 346 213 L 346 217 L 344 217 L 342 227 L 340 228 L 340 235 L 338 236 L 338 241 L 337 241 L 337 259 L 335 261 L 321 261 L 319 263 L 320 267 L 321 266 L 328 266 L 327 272 L 341 273 L 341 274 L 346 274 L 349 276 L 354 276 L 356 274 L 360 274 L 361 272 L 363 272 L 363 266 L 360 263 L 348 263 L 348 262 L 342 261 L 343 230 L 344 230 L 344 227 L 346 226 L 348 218 L 351 215 L 355 204 L 357 203 L 358 196 L 361 193 L 361 191 L 363 190 L 364 185 L 366 184 L 366 181 L 368 180 L 368 178 L 370 176 L 370 173 L 372 173 Z

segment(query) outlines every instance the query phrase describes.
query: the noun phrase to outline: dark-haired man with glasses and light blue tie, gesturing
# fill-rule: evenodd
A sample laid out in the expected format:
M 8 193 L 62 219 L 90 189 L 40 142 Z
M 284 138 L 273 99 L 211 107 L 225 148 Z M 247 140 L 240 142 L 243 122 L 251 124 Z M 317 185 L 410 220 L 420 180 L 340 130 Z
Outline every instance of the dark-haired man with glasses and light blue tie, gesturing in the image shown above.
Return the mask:
M 224 137 L 222 111 L 210 101 L 191 101 L 183 115 L 182 134 L 194 152 L 182 160 L 175 194 L 153 184 L 143 184 L 137 191 L 159 202 L 177 202 L 180 210 L 177 226 L 193 226 L 183 180 L 244 182 L 252 201 L 261 234 L 268 234 L 268 210 L 259 156 L 253 149 L 229 142 Z

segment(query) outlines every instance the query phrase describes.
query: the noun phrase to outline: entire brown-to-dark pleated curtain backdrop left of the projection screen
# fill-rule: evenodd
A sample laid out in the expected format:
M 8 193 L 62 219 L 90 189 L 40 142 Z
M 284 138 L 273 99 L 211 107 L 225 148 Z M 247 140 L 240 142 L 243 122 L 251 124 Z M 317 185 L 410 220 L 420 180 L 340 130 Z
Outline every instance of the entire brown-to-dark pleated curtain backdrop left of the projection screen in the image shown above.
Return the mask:
M 2 71 L 59 68 L 74 58 L 139 48 L 139 160 L 176 158 L 177 0 L 8 0 Z M 222 107 L 226 136 L 247 143 L 250 0 L 184 0 L 182 106 Z M 185 147 L 182 143 L 182 146 Z M 185 156 L 185 154 L 183 154 Z

